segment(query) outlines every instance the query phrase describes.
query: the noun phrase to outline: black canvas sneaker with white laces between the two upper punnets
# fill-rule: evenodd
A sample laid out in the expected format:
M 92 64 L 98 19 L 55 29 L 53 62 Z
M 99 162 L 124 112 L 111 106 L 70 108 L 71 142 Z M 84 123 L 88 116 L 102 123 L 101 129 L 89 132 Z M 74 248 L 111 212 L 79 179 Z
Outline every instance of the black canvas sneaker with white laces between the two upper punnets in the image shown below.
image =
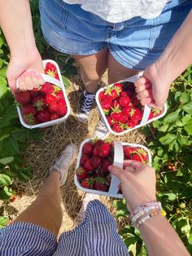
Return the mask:
M 89 93 L 86 90 L 83 91 L 81 102 L 80 102 L 80 112 L 78 113 L 79 121 L 87 121 L 91 110 L 95 102 L 96 93 Z

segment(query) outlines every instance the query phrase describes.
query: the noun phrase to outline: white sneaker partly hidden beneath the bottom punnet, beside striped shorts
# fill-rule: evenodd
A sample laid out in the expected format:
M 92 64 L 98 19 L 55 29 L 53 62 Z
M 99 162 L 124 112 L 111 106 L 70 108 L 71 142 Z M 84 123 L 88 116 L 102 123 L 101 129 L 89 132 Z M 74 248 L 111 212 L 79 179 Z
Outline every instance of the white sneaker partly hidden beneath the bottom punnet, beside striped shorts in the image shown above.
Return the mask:
M 98 196 L 98 195 L 91 194 L 91 193 L 85 194 L 85 198 L 82 201 L 81 209 L 80 209 L 79 213 L 76 215 L 76 218 L 74 219 L 75 227 L 82 223 L 82 221 L 85 217 L 85 211 L 86 211 L 89 201 L 94 201 L 94 200 L 99 200 L 99 199 L 100 199 L 100 196 Z

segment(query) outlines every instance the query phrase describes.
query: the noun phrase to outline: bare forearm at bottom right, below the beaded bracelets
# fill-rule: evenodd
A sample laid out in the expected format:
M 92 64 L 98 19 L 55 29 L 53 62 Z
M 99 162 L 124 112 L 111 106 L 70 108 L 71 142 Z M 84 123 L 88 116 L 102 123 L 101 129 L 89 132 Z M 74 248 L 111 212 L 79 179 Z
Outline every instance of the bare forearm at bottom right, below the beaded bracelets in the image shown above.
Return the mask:
M 168 220 L 160 214 L 142 223 L 140 232 L 150 256 L 190 255 Z

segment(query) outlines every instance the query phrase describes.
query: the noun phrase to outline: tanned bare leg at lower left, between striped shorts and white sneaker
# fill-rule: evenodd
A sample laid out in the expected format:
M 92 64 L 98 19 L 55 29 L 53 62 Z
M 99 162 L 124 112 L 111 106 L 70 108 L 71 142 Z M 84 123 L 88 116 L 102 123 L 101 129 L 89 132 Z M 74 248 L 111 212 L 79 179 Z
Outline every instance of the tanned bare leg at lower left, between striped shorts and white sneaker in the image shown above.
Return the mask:
M 60 174 L 57 170 L 51 171 L 37 199 L 15 219 L 14 223 L 34 223 L 57 236 L 63 217 L 59 178 Z

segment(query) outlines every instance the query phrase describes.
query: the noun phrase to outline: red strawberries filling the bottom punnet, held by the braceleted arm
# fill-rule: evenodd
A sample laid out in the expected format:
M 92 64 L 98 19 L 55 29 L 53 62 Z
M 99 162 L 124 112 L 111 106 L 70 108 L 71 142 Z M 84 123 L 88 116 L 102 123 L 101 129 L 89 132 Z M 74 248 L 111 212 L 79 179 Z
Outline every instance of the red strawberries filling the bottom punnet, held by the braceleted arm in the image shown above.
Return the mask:
M 132 159 L 146 163 L 149 161 L 148 152 L 141 147 L 123 146 L 124 160 Z M 94 139 L 82 147 L 79 167 L 76 177 L 81 187 L 108 192 L 111 183 L 111 174 L 108 166 L 113 165 L 114 143 L 110 140 Z M 119 192 L 121 188 L 119 186 Z

